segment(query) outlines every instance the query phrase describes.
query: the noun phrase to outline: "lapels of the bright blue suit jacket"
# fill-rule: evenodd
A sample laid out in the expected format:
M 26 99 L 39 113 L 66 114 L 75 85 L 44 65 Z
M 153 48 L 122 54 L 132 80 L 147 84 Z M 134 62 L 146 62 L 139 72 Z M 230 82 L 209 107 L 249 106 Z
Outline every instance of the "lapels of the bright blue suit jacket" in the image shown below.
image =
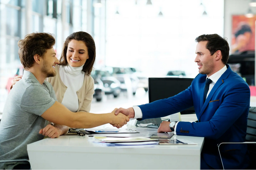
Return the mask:
M 200 121 L 201 116 L 204 113 L 205 108 L 208 106 L 208 104 L 211 101 L 212 96 L 214 95 L 216 90 L 220 87 L 220 85 L 222 85 L 224 83 L 224 79 L 226 79 L 228 77 L 228 75 L 232 72 L 232 70 L 230 69 L 228 64 L 227 64 L 227 67 L 228 67 L 228 69 L 221 75 L 221 77 L 215 83 L 211 92 L 209 93 L 208 97 L 206 98 L 205 102 L 204 102 L 204 87 L 201 88 L 201 90 L 200 90 L 200 107 L 201 107 L 201 103 L 202 103 L 201 98 L 203 98 L 203 107 L 201 107 L 201 111 L 200 111 L 200 114 L 198 116 L 199 121 Z

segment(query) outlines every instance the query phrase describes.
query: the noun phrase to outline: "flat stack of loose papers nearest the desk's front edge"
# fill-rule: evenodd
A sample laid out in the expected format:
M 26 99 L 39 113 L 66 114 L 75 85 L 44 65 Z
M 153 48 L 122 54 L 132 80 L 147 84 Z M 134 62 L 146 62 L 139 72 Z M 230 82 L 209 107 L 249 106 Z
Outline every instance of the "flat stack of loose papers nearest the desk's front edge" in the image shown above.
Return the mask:
M 94 136 L 93 142 L 107 142 L 107 143 L 119 143 L 119 142 L 147 142 L 158 141 L 158 139 L 151 139 L 148 137 L 99 137 Z

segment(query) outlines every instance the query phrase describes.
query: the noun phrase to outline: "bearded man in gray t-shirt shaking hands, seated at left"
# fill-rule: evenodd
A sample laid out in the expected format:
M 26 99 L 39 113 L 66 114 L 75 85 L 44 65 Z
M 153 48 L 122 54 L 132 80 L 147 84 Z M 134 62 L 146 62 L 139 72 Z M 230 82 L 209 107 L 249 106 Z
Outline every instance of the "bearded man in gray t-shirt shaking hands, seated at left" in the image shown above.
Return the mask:
M 4 105 L 0 123 L 0 160 L 28 159 L 28 144 L 43 139 L 44 135 L 59 137 L 68 127 L 93 128 L 106 123 L 124 126 L 129 121 L 123 114 L 116 116 L 115 110 L 107 114 L 74 114 L 56 101 L 52 85 L 44 81 L 56 75 L 55 65 L 60 63 L 54 44 L 55 39 L 50 33 L 28 34 L 18 43 L 20 62 L 26 71 L 13 86 Z M 89 60 L 94 62 L 94 57 L 91 55 Z M 92 66 L 93 63 L 86 69 L 92 70 Z M 88 66 L 84 64 L 84 67 Z M 54 125 L 47 125 L 48 121 Z M 23 164 L 25 162 L 0 163 L 0 169 L 29 168 Z

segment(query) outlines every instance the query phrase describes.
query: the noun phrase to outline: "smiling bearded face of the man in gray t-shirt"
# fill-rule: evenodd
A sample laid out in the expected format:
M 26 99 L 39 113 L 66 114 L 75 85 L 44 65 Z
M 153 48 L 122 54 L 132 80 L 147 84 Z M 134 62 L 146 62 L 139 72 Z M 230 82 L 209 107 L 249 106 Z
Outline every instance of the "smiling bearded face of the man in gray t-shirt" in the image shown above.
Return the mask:
M 59 63 L 60 61 L 57 59 L 54 49 L 47 49 L 43 58 L 42 73 L 46 74 L 46 77 L 56 76 L 55 65 Z

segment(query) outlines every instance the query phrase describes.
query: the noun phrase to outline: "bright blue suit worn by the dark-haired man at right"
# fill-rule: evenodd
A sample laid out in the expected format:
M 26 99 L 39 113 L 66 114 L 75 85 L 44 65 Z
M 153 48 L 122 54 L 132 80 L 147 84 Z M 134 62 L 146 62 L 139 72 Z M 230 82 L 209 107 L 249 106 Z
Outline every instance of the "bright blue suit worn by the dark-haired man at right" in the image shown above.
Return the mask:
M 206 75 L 198 74 L 183 92 L 139 106 L 142 119 L 164 117 L 194 106 L 198 122 L 179 122 L 176 133 L 205 137 L 201 156 L 215 169 L 222 169 L 218 143 L 245 142 L 250 107 L 249 86 L 228 65 L 227 67 L 205 102 Z M 244 169 L 248 166 L 246 144 L 223 144 L 220 150 L 225 169 Z

